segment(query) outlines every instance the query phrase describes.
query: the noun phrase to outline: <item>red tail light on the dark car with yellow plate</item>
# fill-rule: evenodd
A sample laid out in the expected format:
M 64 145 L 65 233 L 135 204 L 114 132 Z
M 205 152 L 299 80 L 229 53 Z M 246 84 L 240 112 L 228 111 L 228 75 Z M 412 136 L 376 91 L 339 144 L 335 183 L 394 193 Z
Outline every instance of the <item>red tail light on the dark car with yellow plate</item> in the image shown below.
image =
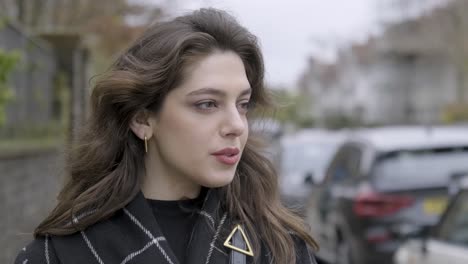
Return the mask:
M 406 195 L 361 193 L 355 198 L 353 212 L 360 217 L 382 217 L 409 207 L 413 202 L 414 198 Z

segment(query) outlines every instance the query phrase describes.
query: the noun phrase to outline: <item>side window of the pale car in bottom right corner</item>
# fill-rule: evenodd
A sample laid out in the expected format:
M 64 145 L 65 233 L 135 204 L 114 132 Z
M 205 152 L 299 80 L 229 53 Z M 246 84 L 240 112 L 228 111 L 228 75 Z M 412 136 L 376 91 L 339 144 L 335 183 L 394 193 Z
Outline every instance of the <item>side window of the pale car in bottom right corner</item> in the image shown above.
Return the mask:
M 439 225 L 436 238 L 468 246 L 468 191 L 460 193 Z

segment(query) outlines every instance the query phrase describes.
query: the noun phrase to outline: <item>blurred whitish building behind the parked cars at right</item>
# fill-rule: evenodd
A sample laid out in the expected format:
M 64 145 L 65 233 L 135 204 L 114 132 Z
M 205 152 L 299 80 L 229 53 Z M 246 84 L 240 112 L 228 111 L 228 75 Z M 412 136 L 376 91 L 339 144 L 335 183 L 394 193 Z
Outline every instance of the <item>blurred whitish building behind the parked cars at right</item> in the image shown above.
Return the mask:
M 311 96 L 318 125 L 341 117 L 360 124 L 436 124 L 460 100 L 457 68 L 440 11 L 389 26 L 384 34 L 339 53 L 333 64 L 311 60 L 301 91 Z

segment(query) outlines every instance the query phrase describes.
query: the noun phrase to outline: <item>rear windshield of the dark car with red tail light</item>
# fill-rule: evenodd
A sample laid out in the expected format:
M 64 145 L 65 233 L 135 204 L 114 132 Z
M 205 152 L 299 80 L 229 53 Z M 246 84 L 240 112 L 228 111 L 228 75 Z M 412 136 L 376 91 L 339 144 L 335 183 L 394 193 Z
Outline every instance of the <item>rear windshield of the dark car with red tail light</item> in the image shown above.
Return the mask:
M 379 189 L 441 187 L 465 171 L 468 147 L 402 150 L 381 154 L 372 179 Z

